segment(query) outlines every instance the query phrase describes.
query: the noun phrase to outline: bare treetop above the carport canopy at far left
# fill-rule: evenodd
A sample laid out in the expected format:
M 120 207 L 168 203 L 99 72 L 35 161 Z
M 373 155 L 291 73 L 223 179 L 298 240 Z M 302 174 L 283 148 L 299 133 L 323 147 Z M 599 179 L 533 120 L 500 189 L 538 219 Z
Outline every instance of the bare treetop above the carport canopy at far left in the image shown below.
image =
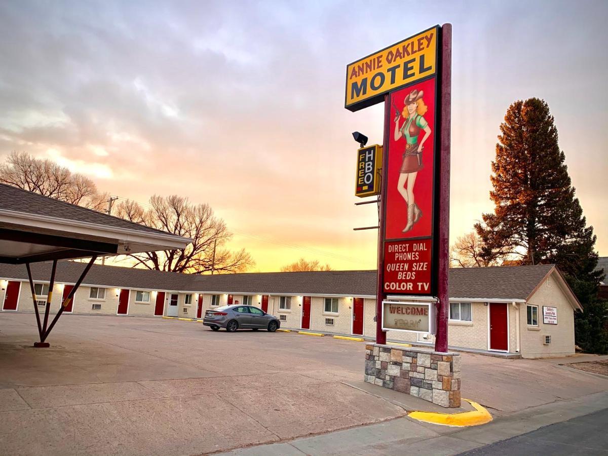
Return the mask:
M 91 179 L 25 152 L 12 152 L 0 164 L 0 182 L 89 209 L 106 209 L 108 195 L 98 192 Z

